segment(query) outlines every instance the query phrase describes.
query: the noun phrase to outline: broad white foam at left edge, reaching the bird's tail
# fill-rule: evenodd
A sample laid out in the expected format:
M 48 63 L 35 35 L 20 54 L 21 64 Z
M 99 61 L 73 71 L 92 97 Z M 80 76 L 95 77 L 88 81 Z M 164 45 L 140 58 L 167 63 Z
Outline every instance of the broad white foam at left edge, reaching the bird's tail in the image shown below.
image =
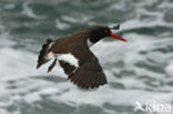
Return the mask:
M 49 64 L 42 66 L 42 69 L 37 70 L 37 59 L 38 55 L 23 52 L 20 50 L 13 50 L 11 48 L 3 48 L 0 50 L 0 74 L 4 75 L 1 80 L 26 77 L 31 75 L 44 74 Z M 59 71 L 54 72 L 59 74 Z M 52 72 L 53 73 L 53 72 Z

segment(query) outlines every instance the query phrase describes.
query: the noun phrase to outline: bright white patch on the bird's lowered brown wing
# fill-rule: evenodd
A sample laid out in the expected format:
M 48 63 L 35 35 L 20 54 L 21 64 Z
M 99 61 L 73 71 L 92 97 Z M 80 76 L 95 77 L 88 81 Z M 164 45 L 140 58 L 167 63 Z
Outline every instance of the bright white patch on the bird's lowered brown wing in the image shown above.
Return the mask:
M 71 53 L 68 54 L 57 54 L 58 60 L 65 61 L 75 68 L 79 68 L 79 60 L 72 55 Z

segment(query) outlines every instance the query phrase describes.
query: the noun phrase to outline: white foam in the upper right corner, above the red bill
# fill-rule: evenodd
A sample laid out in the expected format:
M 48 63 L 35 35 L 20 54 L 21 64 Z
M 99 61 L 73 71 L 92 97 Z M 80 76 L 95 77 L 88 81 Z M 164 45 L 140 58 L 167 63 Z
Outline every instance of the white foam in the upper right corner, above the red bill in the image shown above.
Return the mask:
M 153 1 L 147 1 L 147 2 L 138 2 L 135 4 L 133 4 L 135 12 L 135 18 L 129 19 L 126 21 L 124 21 L 121 24 L 121 30 L 125 31 L 125 30 L 132 30 L 132 29 L 139 29 L 139 28 L 152 28 L 152 27 L 173 27 L 173 23 L 167 23 L 164 20 L 164 10 L 165 8 L 171 8 L 173 6 L 173 3 L 167 2 L 166 0 L 163 1 L 162 3 L 160 3 L 159 8 L 162 10 L 159 11 L 149 11 L 145 7 L 146 6 L 151 6 L 154 2 L 156 2 L 157 0 L 153 0 Z M 120 3 L 122 3 L 120 6 Z M 110 10 L 124 10 L 125 3 L 128 3 L 128 1 L 125 2 L 120 2 L 118 4 L 112 4 L 112 7 L 110 8 Z M 130 4 L 131 6 L 131 4 Z M 141 15 L 146 14 L 149 17 L 152 17 L 152 19 L 147 18 L 147 20 L 141 20 Z M 154 18 L 154 19 L 153 19 Z M 110 23 L 110 25 L 114 25 L 114 23 Z

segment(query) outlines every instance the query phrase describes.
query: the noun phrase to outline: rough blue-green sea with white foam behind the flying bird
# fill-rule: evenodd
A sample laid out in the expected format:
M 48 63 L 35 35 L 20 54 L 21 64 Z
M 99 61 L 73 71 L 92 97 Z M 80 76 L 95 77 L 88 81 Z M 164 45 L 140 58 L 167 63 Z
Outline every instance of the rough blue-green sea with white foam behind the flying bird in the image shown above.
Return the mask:
M 91 50 L 109 84 L 72 85 L 62 69 L 35 70 L 45 39 L 90 25 L 115 25 Z M 172 0 L 0 0 L 0 114 L 173 114 Z M 134 111 L 136 101 L 170 112 Z

